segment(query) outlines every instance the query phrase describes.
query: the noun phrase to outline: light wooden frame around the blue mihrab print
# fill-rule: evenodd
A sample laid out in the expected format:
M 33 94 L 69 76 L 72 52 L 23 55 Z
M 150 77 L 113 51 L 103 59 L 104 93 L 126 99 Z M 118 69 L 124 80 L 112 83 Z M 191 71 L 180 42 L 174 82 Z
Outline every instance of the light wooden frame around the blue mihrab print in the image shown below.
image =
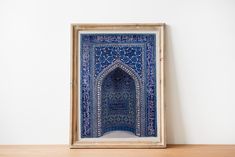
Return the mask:
M 96 142 L 90 143 L 90 144 L 81 144 L 77 142 L 77 98 L 79 96 L 75 96 L 77 94 L 77 89 L 79 85 L 77 84 L 77 77 L 78 74 L 76 72 L 78 59 L 77 59 L 77 53 L 78 53 L 78 31 L 82 30 L 129 30 L 124 29 L 123 27 L 128 27 L 129 29 L 133 30 L 136 28 L 136 30 L 143 30 L 143 29 L 156 29 L 158 28 L 160 30 L 160 38 L 161 43 L 160 45 L 160 66 L 161 66 L 161 73 L 160 73 L 160 90 L 161 90 L 161 140 L 157 144 L 114 144 L 114 145 L 108 145 L 108 144 L 97 144 Z M 70 91 L 71 91 L 71 107 L 70 107 L 70 148 L 166 148 L 166 117 L 165 117 L 165 96 L 164 96 L 164 88 L 165 88 L 165 73 L 164 73 L 164 53 L 165 53 L 165 23 L 145 23 L 145 24 L 136 24 L 136 23 L 128 23 L 128 24 L 91 24 L 91 23 L 72 23 L 71 24 L 71 83 L 70 83 Z M 92 145 L 94 144 L 94 145 Z

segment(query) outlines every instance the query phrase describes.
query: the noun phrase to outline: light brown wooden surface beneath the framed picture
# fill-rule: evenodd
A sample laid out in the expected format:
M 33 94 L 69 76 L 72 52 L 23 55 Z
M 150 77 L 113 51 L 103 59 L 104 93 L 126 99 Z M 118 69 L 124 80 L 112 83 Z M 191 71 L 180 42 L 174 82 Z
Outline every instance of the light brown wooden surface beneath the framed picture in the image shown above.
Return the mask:
M 167 149 L 69 149 L 66 145 L 0 145 L 0 157 L 235 157 L 235 145 L 168 145 Z

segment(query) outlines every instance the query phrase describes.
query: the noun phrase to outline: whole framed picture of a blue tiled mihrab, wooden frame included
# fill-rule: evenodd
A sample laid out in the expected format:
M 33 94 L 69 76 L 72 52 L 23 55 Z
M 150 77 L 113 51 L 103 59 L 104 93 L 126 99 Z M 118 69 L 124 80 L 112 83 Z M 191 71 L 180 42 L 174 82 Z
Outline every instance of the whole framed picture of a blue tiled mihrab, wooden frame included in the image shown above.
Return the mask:
M 165 148 L 164 24 L 72 24 L 71 148 Z

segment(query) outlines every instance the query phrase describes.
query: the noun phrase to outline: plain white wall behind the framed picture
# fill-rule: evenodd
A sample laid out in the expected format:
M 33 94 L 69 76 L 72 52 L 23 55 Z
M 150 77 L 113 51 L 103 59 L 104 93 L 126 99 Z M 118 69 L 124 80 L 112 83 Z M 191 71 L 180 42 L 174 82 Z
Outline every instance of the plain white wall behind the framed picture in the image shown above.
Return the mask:
M 167 141 L 235 144 L 235 1 L 1 0 L 0 144 L 67 144 L 70 24 L 165 22 Z

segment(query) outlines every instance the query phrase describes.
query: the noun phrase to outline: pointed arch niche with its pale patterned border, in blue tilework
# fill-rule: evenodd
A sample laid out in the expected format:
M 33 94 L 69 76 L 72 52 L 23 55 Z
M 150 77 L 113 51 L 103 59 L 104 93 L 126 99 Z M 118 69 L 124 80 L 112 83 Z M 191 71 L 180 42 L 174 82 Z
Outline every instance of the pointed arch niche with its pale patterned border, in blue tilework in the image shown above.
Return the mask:
M 97 76 L 98 137 L 110 131 L 129 131 L 141 136 L 140 84 L 136 72 L 120 60 Z

